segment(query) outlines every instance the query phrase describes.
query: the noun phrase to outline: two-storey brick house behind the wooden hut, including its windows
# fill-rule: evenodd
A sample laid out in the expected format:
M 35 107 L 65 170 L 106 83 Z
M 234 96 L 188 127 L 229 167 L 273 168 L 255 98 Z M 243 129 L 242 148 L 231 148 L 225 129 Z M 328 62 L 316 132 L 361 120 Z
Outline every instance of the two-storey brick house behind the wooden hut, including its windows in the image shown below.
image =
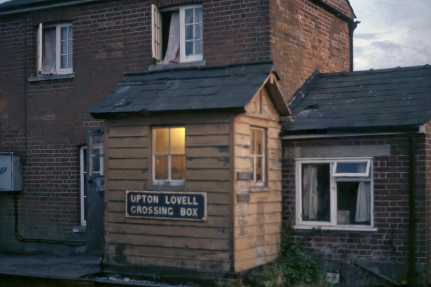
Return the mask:
M 1 4 L 0 153 L 22 177 L 0 193 L 1 250 L 102 247 L 105 124 L 88 111 L 123 73 L 272 60 L 287 99 L 316 68 L 351 69 L 354 17 L 344 0 Z

